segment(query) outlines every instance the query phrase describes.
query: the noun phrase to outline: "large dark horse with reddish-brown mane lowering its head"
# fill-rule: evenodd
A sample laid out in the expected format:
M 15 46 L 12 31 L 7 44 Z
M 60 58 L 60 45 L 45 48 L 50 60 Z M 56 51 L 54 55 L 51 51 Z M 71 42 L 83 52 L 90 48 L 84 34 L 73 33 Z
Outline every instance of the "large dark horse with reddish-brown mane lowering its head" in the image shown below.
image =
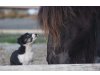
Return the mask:
M 48 64 L 94 63 L 99 7 L 41 7 Z M 100 22 L 99 22 L 100 23 Z

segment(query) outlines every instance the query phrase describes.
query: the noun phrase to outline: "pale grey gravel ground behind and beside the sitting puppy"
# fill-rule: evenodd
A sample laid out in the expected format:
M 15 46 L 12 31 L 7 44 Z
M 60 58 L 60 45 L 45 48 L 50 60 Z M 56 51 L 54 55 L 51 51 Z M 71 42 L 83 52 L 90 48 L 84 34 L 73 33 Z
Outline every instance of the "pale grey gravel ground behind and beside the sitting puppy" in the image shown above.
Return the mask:
M 18 44 L 0 44 L 0 65 L 9 65 L 10 56 L 17 50 Z M 47 64 L 46 62 L 46 44 L 33 44 L 34 62 L 33 64 Z

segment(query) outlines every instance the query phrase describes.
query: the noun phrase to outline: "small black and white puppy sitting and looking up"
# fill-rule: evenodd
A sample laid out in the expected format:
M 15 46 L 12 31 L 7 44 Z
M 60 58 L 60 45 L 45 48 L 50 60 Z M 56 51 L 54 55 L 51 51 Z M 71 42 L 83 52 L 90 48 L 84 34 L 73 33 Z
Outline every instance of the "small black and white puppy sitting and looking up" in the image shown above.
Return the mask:
M 18 50 L 14 51 L 10 57 L 11 65 L 28 65 L 33 61 L 32 44 L 36 40 L 37 34 L 25 33 L 21 35 L 17 42 L 20 44 Z

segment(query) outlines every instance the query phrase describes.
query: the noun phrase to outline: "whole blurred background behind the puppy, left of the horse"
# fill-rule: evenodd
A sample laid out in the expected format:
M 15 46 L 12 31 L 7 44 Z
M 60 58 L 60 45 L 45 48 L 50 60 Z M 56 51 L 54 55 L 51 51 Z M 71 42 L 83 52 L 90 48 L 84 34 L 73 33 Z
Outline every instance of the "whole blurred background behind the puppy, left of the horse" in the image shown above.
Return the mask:
M 46 64 L 47 39 L 38 23 L 38 11 L 38 6 L 0 7 L 0 65 L 9 65 L 11 53 L 19 47 L 17 38 L 26 32 L 39 35 L 33 44 L 33 64 Z

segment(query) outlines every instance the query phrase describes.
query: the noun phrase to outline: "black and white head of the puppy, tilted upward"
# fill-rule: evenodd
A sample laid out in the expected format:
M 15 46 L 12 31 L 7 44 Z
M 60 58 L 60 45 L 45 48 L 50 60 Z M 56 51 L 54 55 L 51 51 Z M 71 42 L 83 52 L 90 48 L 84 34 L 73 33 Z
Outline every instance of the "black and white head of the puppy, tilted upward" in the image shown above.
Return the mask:
M 20 45 L 32 44 L 36 38 L 37 34 L 25 33 L 18 38 L 17 43 Z

